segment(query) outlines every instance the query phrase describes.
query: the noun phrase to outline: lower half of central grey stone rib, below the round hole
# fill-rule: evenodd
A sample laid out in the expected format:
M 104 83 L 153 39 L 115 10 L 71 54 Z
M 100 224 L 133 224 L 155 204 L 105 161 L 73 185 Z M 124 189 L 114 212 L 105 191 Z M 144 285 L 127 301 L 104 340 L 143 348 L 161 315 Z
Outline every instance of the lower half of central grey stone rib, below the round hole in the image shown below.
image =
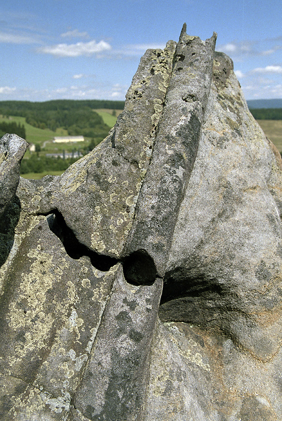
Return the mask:
M 137 420 L 143 412 L 148 352 L 162 281 L 133 287 L 119 268 L 74 407 L 90 420 Z

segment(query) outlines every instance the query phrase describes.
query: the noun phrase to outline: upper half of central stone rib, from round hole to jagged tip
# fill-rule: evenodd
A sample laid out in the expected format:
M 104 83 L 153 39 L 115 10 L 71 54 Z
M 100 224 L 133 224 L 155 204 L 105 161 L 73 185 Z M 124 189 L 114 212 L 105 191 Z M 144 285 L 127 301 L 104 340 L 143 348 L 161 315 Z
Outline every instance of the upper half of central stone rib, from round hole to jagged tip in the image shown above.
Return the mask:
M 203 43 L 184 27 L 159 121 L 152 160 L 125 248 L 145 250 L 163 277 L 179 207 L 196 158 L 209 96 L 216 35 Z

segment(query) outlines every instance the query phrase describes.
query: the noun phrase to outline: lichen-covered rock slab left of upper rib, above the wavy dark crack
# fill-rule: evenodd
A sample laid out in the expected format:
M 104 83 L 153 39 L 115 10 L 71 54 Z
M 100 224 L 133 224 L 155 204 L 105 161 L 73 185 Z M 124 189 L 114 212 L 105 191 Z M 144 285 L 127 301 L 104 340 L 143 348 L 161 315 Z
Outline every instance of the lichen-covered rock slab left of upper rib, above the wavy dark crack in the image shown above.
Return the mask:
M 91 250 L 120 258 L 151 157 L 176 43 L 148 50 L 109 136 L 59 178 L 21 182 L 29 212 L 58 209 L 77 239 Z M 134 130 L 132 128 L 134 127 Z M 36 186 L 36 187 L 35 187 Z M 30 190 L 34 191 L 30 203 Z

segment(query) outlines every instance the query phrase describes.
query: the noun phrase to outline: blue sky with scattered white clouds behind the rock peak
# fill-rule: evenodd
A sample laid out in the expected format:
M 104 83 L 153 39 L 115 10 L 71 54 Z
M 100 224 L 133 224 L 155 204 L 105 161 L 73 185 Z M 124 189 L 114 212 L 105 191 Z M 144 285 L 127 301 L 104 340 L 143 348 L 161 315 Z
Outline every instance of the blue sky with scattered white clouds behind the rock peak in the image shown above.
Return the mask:
M 124 100 L 147 48 L 202 40 L 249 99 L 282 98 L 281 0 L 1 0 L 0 101 Z

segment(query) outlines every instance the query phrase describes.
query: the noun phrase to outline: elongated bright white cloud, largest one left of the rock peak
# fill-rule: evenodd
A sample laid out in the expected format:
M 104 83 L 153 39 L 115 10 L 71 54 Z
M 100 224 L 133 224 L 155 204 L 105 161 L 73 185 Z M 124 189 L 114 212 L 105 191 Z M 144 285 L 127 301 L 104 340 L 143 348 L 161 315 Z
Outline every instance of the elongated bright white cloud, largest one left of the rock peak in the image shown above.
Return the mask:
M 52 54 L 57 57 L 78 57 L 80 55 L 92 55 L 108 50 L 111 50 L 110 44 L 105 41 L 96 43 L 95 40 L 90 41 L 89 43 L 57 44 L 38 49 L 40 53 Z

